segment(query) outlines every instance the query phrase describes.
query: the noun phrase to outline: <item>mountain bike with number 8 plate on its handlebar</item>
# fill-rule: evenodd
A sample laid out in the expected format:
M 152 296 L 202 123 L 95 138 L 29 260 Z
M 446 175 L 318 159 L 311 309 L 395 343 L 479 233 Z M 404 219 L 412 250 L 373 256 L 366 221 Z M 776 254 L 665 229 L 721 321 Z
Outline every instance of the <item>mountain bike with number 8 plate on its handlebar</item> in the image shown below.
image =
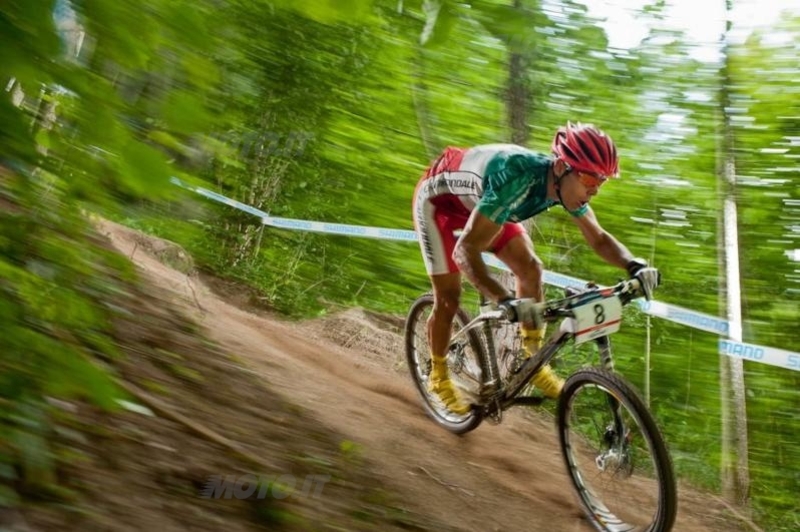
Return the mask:
M 609 335 L 616 333 L 622 308 L 642 297 L 637 279 L 614 286 L 569 289 L 565 297 L 540 305 L 546 323 L 557 324 L 542 348 L 526 357 L 517 324 L 506 311 L 481 298 L 470 319 L 460 308 L 447 353 L 450 378 L 472 403 L 470 412 L 447 410 L 428 391 L 431 371 L 426 322 L 433 296 L 419 297 L 405 323 L 406 358 L 427 414 L 455 434 L 484 419 L 500 423 L 516 405 L 538 406 L 530 379 L 572 341 L 594 342 L 599 366 L 574 371 L 555 409 L 561 454 L 578 499 L 592 526 L 603 532 L 667 532 L 677 513 L 672 461 L 656 422 L 635 388 L 614 371 Z M 591 345 L 591 344 L 588 344 Z

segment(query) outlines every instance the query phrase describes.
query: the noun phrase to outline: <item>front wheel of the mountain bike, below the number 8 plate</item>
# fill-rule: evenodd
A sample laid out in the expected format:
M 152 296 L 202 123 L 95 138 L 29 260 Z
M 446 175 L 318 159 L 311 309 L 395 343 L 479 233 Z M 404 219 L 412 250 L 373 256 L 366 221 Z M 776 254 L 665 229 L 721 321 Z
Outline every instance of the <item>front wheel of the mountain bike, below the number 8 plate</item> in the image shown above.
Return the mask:
M 603 532 L 668 532 L 678 509 L 664 439 L 634 388 L 582 369 L 558 403 L 561 450 L 591 524 Z

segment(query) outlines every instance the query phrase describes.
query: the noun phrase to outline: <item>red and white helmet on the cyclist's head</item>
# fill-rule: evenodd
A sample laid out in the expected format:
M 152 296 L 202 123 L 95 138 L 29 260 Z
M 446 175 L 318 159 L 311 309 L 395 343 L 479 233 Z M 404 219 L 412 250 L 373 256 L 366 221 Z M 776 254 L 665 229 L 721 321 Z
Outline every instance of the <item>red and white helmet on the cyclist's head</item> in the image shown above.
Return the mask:
M 619 157 L 611 137 L 591 124 L 567 122 L 553 138 L 553 154 L 579 170 L 603 177 L 617 177 Z

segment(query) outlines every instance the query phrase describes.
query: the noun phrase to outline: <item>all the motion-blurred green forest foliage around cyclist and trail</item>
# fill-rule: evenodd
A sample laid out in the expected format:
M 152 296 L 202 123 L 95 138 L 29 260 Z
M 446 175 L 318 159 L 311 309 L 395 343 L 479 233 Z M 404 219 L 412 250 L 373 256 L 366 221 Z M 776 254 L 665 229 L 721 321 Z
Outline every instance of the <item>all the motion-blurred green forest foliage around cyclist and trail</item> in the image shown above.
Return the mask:
M 277 216 L 411 229 L 414 187 L 439 150 L 510 138 L 510 52 L 526 65 L 528 144 L 546 151 L 567 120 L 607 130 L 623 176 L 593 201 L 601 223 L 659 266 L 659 299 L 719 314 L 721 65 L 691 55 L 663 2 L 644 7 L 649 37 L 618 50 L 570 1 L 5 2 L 0 458 L 52 470 L 43 397 L 110 405 L 116 394 L 90 360 L 115 356 L 97 302 L 125 268 L 87 236 L 82 209 L 180 242 L 293 316 L 340 305 L 402 314 L 428 288 L 416 246 L 265 228 L 184 196 L 168 176 Z M 800 275 L 787 256 L 800 247 L 797 42 L 800 20 L 787 18 L 733 44 L 725 110 L 736 126 L 745 341 L 789 350 L 800 347 Z M 620 275 L 558 209 L 532 234 L 549 269 L 601 283 Z M 615 338 L 619 369 L 642 388 L 647 323 L 630 310 Z M 676 466 L 716 489 L 717 339 L 660 320 L 650 333 L 652 407 Z M 745 369 L 756 517 L 792 530 L 800 378 Z

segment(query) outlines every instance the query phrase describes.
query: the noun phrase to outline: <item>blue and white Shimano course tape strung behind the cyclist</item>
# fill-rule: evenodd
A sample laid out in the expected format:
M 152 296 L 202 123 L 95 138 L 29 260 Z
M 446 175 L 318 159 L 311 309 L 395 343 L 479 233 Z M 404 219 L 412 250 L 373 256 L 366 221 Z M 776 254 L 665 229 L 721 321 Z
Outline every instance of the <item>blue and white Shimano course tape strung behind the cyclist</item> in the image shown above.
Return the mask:
M 260 209 L 256 209 L 255 207 L 245 203 L 241 203 L 227 196 L 223 196 L 222 194 L 218 194 L 212 190 L 190 185 L 176 177 L 171 178 L 171 181 L 174 185 L 195 192 L 203 197 L 224 203 L 225 205 L 239 209 L 248 214 L 252 214 L 253 216 L 260 218 L 261 223 L 271 227 L 289 230 L 311 231 L 315 233 L 326 233 L 331 235 L 360 236 L 381 240 L 400 240 L 404 242 L 417 241 L 416 233 L 414 231 L 405 229 L 387 229 L 383 227 L 315 222 L 310 220 L 297 220 L 293 218 L 270 216 L 268 213 Z M 506 265 L 500 262 L 494 255 L 485 254 L 484 259 L 486 264 L 489 266 L 494 266 L 503 270 L 508 269 Z M 582 279 L 551 271 L 544 272 L 544 282 L 560 288 L 580 288 L 586 285 L 586 281 Z M 663 318 L 665 320 L 678 323 L 680 325 L 685 325 L 687 327 L 692 327 L 694 329 L 699 329 L 701 331 L 718 334 L 720 336 L 726 336 L 730 329 L 726 320 L 717 318 L 716 316 L 711 316 L 709 314 L 695 312 L 693 310 L 676 305 L 661 303 L 660 301 L 645 301 L 642 299 L 637 299 L 636 303 L 639 305 L 639 308 L 641 308 L 642 311 L 650 314 L 651 316 Z M 756 362 L 762 362 L 764 364 L 800 371 L 800 353 L 793 353 L 790 351 L 784 351 L 782 349 L 745 344 L 742 342 L 724 339 L 720 339 L 719 346 L 719 352 L 723 355 L 742 358 L 744 360 L 753 360 Z

